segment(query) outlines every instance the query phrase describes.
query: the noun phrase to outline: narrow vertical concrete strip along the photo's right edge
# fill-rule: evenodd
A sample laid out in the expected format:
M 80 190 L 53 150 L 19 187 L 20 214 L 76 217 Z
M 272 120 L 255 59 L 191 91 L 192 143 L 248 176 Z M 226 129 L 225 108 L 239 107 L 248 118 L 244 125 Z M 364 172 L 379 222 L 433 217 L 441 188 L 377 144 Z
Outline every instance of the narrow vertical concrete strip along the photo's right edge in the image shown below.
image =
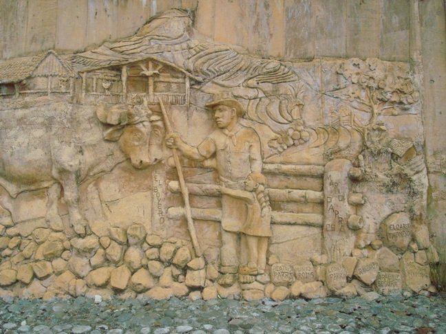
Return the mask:
M 446 259 L 446 3 L 419 3 L 424 69 L 425 152 L 429 176 L 428 219 L 433 241 Z

